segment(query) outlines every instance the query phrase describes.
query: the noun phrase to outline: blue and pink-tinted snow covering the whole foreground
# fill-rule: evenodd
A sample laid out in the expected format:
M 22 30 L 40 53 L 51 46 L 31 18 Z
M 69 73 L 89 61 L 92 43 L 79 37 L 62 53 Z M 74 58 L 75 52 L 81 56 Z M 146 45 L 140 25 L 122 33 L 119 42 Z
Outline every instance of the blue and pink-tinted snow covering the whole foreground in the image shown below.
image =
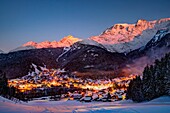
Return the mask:
M 144 103 L 133 103 L 130 100 L 89 103 L 34 100 L 28 103 L 15 103 L 0 97 L 1 113 L 169 113 L 169 111 L 170 96 Z

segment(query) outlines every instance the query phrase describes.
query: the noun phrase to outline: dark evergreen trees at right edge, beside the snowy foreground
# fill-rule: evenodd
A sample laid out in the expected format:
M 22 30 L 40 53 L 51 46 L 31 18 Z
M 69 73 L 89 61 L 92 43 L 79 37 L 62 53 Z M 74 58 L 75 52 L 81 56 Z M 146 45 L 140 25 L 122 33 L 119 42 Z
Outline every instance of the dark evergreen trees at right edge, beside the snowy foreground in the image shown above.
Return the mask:
M 170 53 L 155 60 L 154 65 L 146 66 L 143 78 L 138 76 L 129 83 L 126 96 L 142 102 L 163 95 L 170 95 Z

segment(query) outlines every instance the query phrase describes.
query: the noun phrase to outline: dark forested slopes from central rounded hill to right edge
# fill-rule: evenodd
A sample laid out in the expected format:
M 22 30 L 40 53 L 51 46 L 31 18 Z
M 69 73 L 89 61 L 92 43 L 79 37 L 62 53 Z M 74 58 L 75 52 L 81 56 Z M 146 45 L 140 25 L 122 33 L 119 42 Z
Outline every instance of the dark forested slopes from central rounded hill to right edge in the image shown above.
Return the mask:
M 113 76 L 141 74 L 147 64 L 153 64 L 155 59 L 160 59 L 170 52 L 170 33 L 167 32 L 168 29 L 159 30 L 145 46 L 127 54 L 109 52 L 93 40 L 83 40 L 64 51 L 57 61 L 62 68 L 82 71 L 83 74 L 87 72 L 85 75 L 93 73 L 92 76 L 96 76 L 102 73 L 107 76 L 109 71 Z M 111 74 L 111 71 L 116 74 Z

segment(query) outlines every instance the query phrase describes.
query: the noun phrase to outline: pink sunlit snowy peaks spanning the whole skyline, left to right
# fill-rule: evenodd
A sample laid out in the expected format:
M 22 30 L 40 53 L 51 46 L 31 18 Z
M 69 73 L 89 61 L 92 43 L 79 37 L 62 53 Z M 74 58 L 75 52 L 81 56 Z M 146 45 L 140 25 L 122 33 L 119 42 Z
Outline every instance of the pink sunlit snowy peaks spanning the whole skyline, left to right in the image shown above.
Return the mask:
M 81 43 L 87 45 L 102 46 L 110 52 L 128 53 L 145 46 L 160 29 L 166 29 L 166 33 L 170 32 L 170 18 L 154 21 L 138 20 L 135 24 L 115 24 L 99 36 L 92 36 L 84 40 L 69 35 L 59 42 L 36 43 L 30 41 L 11 52 L 35 48 L 70 47 L 75 42 L 82 41 Z

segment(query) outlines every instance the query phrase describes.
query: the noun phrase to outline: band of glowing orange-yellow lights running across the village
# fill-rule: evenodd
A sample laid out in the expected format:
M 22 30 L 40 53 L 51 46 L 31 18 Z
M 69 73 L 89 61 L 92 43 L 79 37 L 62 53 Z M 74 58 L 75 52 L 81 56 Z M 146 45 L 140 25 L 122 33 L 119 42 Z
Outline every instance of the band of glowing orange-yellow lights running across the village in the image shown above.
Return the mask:
M 130 77 L 122 77 L 120 79 L 114 79 L 113 81 L 111 80 L 99 80 L 99 81 L 86 81 L 86 82 L 80 82 L 82 81 L 81 79 L 77 78 L 70 78 L 66 77 L 67 79 L 63 79 L 62 76 L 57 74 L 57 70 L 45 70 L 45 72 L 39 73 L 37 75 L 39 78 L 43 77 L 43 74 L 48 75 L 50 80 L 48 79 L 43 79 L 43 80 L 37 80 L 39 81 L 38 83 L 34 81 L 28 81 L 27 79 L 12 79 L 9 80 L 9 86 L 14 86 L 15 88 L 19 89 L 21 92 L 25 91 L 30 91 L 35 88 L 51 88 L 52 86 L 64 86 L 67 88 L 70 88 L 71 85 L 73 85 L 76 88 L 81 88 L 81 89 L 90 89 L 90 90 L 103 90 L 103 89 L 108 89 L 114 86 L 115 82 L 120 83 L 121 81 L 127 81 L 135 78 L 136 76 L 130 76 Z M 125 84 L 125 86 L 128 86 L 128 84 Z M 114 89 L 112 89 L 112 92 L 114 92 Z

